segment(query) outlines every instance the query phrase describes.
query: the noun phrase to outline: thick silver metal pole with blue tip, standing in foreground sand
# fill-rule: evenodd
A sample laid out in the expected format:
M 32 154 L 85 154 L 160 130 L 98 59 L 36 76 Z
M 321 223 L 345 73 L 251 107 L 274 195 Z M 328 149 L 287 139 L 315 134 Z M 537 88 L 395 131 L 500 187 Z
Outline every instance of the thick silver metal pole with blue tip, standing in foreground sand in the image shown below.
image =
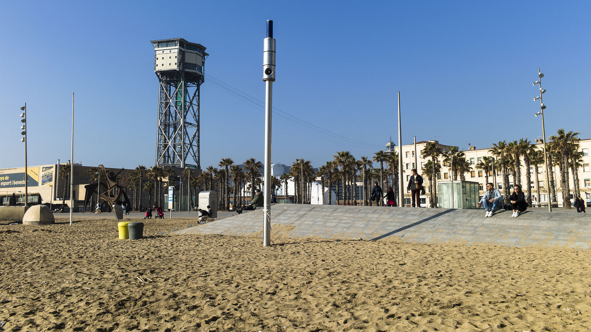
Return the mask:
M 275 82 L 275 39 L 273 21 L 267 20 L 267 38 L 263 40 L 263 76 L 265 82 L 265 193 L 262 245 L 271 245 L 271 121 L 273 82 Z M 254 184 L 253 184 L 254 185 Z

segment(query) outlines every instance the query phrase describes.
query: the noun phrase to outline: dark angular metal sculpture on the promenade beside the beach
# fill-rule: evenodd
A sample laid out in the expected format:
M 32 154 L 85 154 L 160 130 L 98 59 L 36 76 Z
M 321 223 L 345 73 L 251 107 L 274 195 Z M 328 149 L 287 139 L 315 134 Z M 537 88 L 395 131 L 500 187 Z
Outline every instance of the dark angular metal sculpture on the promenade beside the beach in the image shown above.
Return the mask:
M 121 171 L 123 171 L 123 169 L 121 169 Z M 91 183 L 84 186 L 86 189 L 86 195 L 84 198 L 84 209 L 82 210 L 82 213 L 84 213 L 84 211 L 86 211 L 86 207 L 89 206 L 90 199 L 95 193 L 96 188 L 99 188 L 98 200 L 109 205 L 109 212 L 113 210 L 114 204 L 121 205 L 122 203 L 125 203 L 125 206 L 131 207 L 129 198 L 125 193 L 125 188 L 129 184 L 129 177 L 126 175 L 121 180 L 116 180 L 117 175 L 119 175 L 121 171 L 119 171 L 117 174 L 113 172 L 109 172 L 107 174 L 105 166 L 99 165 L 100 183 Z M 116 191 L 115 196 L 112 195 L 113 190 Z

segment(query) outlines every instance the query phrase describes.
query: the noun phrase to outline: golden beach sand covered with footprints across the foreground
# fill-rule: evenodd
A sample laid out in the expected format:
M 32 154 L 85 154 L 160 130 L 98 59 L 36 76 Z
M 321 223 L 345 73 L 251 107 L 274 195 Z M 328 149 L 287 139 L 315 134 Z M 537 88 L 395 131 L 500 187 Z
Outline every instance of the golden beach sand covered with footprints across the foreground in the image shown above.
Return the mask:
M 186 219 L 119 240 L 117 220 L 56 222 L 0 226 L 0 330 L 591 330 L 589 250 L 158 235 Z

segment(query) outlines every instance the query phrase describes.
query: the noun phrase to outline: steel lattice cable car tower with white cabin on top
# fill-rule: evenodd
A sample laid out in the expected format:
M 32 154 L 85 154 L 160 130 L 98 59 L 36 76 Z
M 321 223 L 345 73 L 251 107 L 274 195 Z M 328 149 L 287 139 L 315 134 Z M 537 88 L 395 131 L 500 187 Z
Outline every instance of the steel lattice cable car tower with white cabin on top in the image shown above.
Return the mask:
M 183 38 L 152 40 L 158 76 L 158 167 L 201 168 L 199 97 L 205 47 Z M 189 158 L 187 158 L 189 157 Z

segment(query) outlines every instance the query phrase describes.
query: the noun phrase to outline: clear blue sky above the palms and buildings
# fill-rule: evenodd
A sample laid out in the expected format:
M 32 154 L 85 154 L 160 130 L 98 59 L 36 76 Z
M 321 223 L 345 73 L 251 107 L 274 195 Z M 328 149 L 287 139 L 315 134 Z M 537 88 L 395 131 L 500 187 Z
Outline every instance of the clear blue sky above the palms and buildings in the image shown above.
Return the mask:
M 272 3 L 272 2 L 271 2 Z M 262 40 L 274 20 L 277 81 L 272 160 L 319 167 L 336 151 L 373 156 L 398 143 L 490 147 L 541 136 L 532 100 L 538 67 L 547 136 L 591 138 L 589 1 L 376 2 L 2 1 L 0 168 L 70 159 L 133 168 L 154 164 L 158 80 L 150 40 L 207 47 L 201 88 L 201 163 L 264 157 Z M 209 77 L 208 77 L 209 76 Z M 217 80 L 217 81 L 216 81 Z M 293 126 L 280 115 L 310 123 Z M 313 126 L 334 134 L 317 135 Z M 339 136 L 340 135 L 340 136 Z M 326 139 L 328 137 L 328 139 Z M 100 152 L 98 152 L 100 151 Z

